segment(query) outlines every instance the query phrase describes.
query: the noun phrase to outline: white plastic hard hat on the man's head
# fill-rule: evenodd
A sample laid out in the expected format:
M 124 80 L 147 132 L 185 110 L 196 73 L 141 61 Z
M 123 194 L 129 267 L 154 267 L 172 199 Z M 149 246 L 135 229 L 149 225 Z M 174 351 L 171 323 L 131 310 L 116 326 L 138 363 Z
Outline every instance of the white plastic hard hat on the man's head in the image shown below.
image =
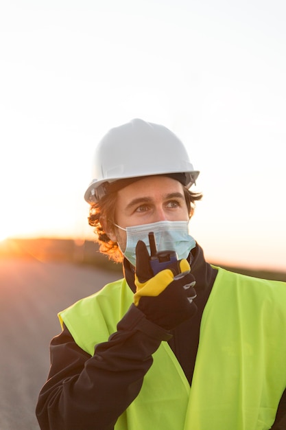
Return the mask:
M 93 203 L 106 194 L 106 185 L 120 179 L 155 174 L 183 174 L 181 181 L 190 188 L 200 172 L 193 169 L 184 145 L 168 128 L 132 120 L 112 128 L 95 152 L 93 181 L 84 194 Z

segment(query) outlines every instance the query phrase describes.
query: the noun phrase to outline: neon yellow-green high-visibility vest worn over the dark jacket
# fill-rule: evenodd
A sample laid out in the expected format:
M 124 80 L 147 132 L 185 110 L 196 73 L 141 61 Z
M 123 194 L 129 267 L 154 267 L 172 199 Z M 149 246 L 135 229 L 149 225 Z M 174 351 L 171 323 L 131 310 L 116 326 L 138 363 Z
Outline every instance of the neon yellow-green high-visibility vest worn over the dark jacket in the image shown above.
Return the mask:
M 218 269 L 200 326 L 191 387 L 163 341 L 116 430 L 268 430 L 286 387 L 286 283 Z M 59 314 L 94 354 L 132 303 L 126 280 Z

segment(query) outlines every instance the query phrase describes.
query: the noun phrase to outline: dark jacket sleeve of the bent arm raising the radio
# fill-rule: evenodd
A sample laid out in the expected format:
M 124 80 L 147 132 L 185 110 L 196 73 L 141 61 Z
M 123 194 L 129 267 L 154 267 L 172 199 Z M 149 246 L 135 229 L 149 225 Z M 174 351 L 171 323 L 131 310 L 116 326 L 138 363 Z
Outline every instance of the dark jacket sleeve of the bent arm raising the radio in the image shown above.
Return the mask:
M 133 304 L 93 357 L 64 327 L 51 341 L 51 369 L 36 407 L 40 429 L 114 429 L 139 394 L 152 354 L 170 338 Z

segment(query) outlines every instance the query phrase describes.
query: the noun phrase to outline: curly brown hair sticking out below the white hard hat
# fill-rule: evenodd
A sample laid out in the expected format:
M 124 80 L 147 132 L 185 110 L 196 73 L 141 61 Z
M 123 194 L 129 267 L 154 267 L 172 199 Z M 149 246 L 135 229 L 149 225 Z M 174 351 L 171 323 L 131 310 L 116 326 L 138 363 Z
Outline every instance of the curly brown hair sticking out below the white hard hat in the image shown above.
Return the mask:
M 193 215 L 195 201 L 202 199 L 202 194 L 191 192 L 184 187 L 184 198 L 186 199 L 189 217 Z M 106 234 L 104 223 L 110 231 L 114 231 L 115 207 L 117 192 L 110 192 L 102 197 L 96 203 L 93 203 L 89 209 L 88 224 L 95 227 L 95 241 L 99 243 L 99 251 L 106 254 L 110 260 L 122 262 L 123 255 L 117 242 L 113 242 Z

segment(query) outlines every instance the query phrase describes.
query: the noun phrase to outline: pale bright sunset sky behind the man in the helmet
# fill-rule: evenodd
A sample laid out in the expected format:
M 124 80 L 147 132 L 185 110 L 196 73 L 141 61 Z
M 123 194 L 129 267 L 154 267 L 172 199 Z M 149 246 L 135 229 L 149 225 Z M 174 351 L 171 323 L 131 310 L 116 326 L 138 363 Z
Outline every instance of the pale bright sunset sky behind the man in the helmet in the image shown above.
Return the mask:
M 140 117 L 200 170 L 212 262 L 286 270 L 284 0 L 0 5 L 0 239 L 93 238 L 97 142 Z

